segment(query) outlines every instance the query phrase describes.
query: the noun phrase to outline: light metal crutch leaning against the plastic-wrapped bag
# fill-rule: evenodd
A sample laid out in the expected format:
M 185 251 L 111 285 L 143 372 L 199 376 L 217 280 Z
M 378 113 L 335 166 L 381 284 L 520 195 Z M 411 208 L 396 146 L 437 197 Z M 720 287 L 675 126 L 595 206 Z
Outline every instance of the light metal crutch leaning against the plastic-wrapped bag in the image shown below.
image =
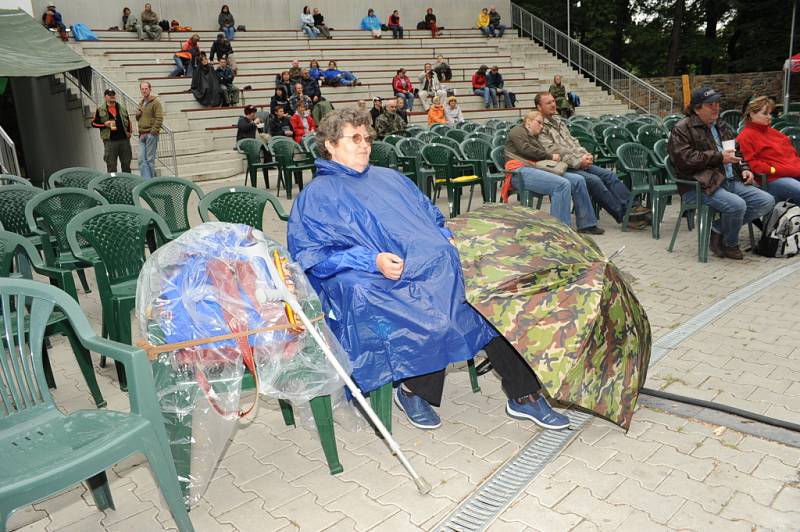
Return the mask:
M 402 449 L 400 449 L 400 445 L 398 445 L 395 439 L 392 438 L 392 435 L 389 433 L 388 430 L 386 430 L 386 427 L 383 425 L 378 415 L 375 413 L 374 410 L 372 410 L 372 407 L 369 406 L 369 403 L 364 398 L 364 395 L 361 393 L 361 390 L 358 389 L 358 386 L 356 386 L 356 383 L 353 382 L 353 380 L 350 378 L 350 375 L 348 375 L 347 372 L 342 367 L 342 365 L 339 364 L 339 361 L 336 359 L 336 355 L 334 355 L 333 351 L 331 351 L 331 348 L 328 347 L 328 344 L 325 341 L 325 339 L 322 337 L 321 334 L 319 334 L 319 331 L 317 331 L 316 327 L 314 327 L 314 324 L 311 323 L 311 320 L 308 318 L 306 313 L 303 312 L 303 308 L 300 305 L 300 302 L 297 301 L 297 298 L 294 297 L 292 292 L 286 286 L 286 283 L 283 282 L 283 278 L 277 271 L 275 264 L 273 264 L 271 260 L 267 260 L 266 263 L 267 267 L 270 270 L 270 275 L 272 276 L 272 279 L 276 281 L 275 283 L 276 286 L 279 284 L 277 281 L 280 281 L 280 286 L 278 286 L 278 291 L 281 292 L 281 299 L 283 299 L 292 308 L 294 313 L 300 317 L 300 320 L 303 322 L 303 325 L 305 326 L 306 330 L 309 333 L 311 333 L 311 336 L 314 338 L 314 341 L 317 342 L 317 345 L 319 345 L 319 347 L 322 349 L 322 352 L 325 353 L 325 358 L 328 359 L 328 362 L 330 362 L 330 364 L 333 366 L 333 369 L 336 370 L 336 373 L 338 373 L 339 376 L 342 378 L 345 385 L 347 385 L 347 387 L 350 389 L 350 392 L 353 394 L 353 397 L 355 397 L 358 404 L 361 405 L 361 408 L 363 408 L 364 412 L 367 413 L 369 419 L 372 421 L 372 423 L 375 424 L 375 427 L 378 429 L 378 432 L 380 432 L 381 436 L 383 436 L 384 441 L 386 441 L 386 443 L 389 445 L 389 448 L 400 460 L 400 463 L 403 464 L 403 467 L 405 467 L 406 471 L 408 471 L 409 475 L 411 475 L 411 478 L 417 485 L 417 489 L 419 490 L 419 492 L 422 494 L 430 492 L 431 485 L 428 483 L 427 480 L 419 476 L 419 474 L 414 470 L 414 466 L 411 465 L 411 462 L 408 461 L 406 455 L 403 454 Z

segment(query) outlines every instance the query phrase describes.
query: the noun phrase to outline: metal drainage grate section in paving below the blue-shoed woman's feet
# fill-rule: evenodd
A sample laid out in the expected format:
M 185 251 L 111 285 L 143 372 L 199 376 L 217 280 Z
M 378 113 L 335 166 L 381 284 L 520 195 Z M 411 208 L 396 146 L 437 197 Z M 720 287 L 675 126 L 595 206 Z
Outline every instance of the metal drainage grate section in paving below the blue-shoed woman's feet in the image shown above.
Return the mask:
M 570 428 L 545 430 L 514 458 L 489 477 L 478 490 L 461 503 L 435 530 L 485 530 L 500 513 L 572 441 L 591 414 L 568 410 Z

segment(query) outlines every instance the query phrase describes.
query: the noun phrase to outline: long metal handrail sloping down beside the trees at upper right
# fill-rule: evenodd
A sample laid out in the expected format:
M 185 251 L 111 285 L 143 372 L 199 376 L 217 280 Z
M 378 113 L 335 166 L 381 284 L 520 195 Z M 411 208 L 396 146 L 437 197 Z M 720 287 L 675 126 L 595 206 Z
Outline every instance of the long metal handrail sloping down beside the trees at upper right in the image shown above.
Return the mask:
M 659 116 L 672 113 L 674 102 L 668 94 L 513 3 L 511 21 L 523 35 L 541 43 L 630 107 Z

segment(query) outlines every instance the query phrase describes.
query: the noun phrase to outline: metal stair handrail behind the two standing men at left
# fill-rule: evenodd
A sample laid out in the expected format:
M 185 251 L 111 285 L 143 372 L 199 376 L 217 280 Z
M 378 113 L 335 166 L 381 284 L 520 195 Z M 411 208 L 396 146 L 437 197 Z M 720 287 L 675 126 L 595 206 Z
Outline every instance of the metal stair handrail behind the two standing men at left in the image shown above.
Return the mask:
M 139 107 L 139 102 L 134 100 L 128 93 L 122 90 L 119 85 L 108 79 L 102 72 L 94 67 L 91 68 L 91 76 L 80 74 L 80 70 L 65 72 L 65 82 L 69 82 L 80 94 L 81 105 L 84 98 L 89 100 L 94 106 L 100 105 L 104 101 L 103 95 L 107 89 L 113 90 L 120 101 L 128 109 L 130 115 L 135 114 Z M 81 79 L 84 78 L 84 79 Z M 92 111 L 94 116 L 94 111 Z M 136 120 L 131 120 L 131 131 L 134 138 L 138 137 L 139 127 Z M 161 125 L 159 134 L 158 149 L 156 150 L 156 168 L 160 175 L 178 177 L 178 158 L 175 152 L 175 133 L 166 124 Z

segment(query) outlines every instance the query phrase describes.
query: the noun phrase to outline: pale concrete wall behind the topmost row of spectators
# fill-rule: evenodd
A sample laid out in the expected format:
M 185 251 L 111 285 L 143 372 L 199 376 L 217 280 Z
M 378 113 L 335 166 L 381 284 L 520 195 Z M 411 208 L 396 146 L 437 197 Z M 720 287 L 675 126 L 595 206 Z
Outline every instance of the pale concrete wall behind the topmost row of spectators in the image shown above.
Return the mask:
M 35 17 L 40 17 L 47 0 L 32 0 Z M 417 22 L 425 17 L 425 9 L 433 8 L 438 21 L 447 27 L 472 27 L 482 7 L 488 7 L 485 0 L 369 0 L 367 2 L 348 2 L 342 0 L 151 0 L 153 9 L 161 19 L 178 20 L 182 25 L 197 29 L 216 29 L 217 16 L 222 4 L 230 6 L 236 24 L 248 29 L 295 29 L 299 26 L 300 14 L 304 5 L 318 7 L 325 16 L 325 23 L 332 28 L 357 28 L 361 18 L 373 8 L 376 15 L 385 20 L 392 10 L 400 10 L 403 27 L 414 29 Z M 58 10 L 64 15 L 67 24 L 82 22 L 91 28 L 105 29 L 118 26 L 122 8 L 130 7 L 140 13 L 143 0 L 62 0 L 56 2 Z M 491 2 L 503 17 L 506 26 L 511 25 L 510 0 Z

